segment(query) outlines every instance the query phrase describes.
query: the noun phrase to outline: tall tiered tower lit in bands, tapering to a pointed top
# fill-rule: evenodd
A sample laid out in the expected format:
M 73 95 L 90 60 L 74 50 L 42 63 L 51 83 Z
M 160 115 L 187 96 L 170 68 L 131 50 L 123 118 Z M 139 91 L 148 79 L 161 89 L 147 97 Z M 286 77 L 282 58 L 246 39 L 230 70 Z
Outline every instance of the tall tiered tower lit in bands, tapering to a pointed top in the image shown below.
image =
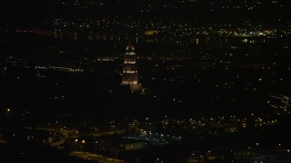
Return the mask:
M 126 47 L 122 85 L 128 85 L 130 91 L 141 91 L 142 86 L 138 83 L 135 48 L 129 43 Z

